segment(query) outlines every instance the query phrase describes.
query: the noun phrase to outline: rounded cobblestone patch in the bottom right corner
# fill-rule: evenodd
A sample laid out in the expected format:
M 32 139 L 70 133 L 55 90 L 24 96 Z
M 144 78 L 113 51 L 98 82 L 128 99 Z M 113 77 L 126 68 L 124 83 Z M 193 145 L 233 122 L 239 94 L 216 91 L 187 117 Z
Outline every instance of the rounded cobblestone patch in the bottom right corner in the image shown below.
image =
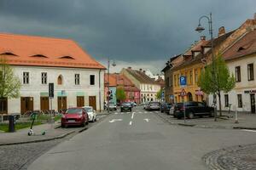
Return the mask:
M 256 144 L 215 150 L 203 156 L 202 159 L 210 169 L 254 170 L 256 169 Z

